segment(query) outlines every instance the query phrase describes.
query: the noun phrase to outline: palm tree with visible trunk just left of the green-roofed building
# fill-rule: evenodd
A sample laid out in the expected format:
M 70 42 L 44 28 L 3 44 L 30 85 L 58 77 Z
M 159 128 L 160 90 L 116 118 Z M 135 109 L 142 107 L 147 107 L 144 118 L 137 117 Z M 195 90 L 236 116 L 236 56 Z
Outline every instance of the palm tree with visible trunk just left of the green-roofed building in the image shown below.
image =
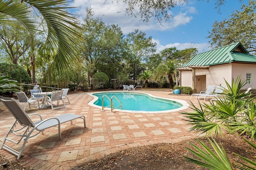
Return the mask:
M 154 72 L 154 77 L 156 81 L 167 77 L 170 83 L 170 88 L 173 89 L 173 76 L 176 74 L 176 62 L 167 59 L 163 63 L 160 63 Z

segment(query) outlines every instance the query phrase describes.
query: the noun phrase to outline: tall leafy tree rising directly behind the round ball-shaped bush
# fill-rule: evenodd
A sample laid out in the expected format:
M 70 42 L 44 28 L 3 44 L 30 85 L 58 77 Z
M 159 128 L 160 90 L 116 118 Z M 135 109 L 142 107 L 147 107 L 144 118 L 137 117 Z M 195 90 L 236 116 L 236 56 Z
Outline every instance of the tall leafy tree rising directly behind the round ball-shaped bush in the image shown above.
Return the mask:
M 93 18 L 91 8 L 87 9 L 82 32 L 85 42 L 82 54 L 88 66 L 88 82 L 94 73 L 104 72 L 114 78 L 121 67 L 123 35 L 120 27 L 106 25 L 100 18 Z

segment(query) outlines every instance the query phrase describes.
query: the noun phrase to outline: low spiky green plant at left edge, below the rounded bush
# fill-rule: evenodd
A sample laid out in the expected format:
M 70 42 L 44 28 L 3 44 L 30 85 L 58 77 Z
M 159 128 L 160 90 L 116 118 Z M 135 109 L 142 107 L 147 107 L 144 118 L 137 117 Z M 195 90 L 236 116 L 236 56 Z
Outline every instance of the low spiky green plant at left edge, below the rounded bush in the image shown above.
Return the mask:
M 20 86 L 18 84 L 16 80 L 9 80 L 5 76 L 0 76 L 0 93 L 19 91 Z

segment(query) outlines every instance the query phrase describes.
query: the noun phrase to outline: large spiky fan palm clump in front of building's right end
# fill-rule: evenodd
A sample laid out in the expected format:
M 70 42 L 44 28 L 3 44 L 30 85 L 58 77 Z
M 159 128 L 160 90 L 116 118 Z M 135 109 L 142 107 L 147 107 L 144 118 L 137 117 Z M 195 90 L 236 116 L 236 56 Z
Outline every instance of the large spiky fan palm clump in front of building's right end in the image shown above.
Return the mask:
M 226 80 L 225 80 L 226 81 Z M 250 93 L 242 92 L 242 87 L 246 81 L 242 81 L 238 76 L 236 80 L 232 79 L 232 84 L 228 84 L 216 104 L 199 102 L 197 108 L 192 102 L 193 112 L 183 112 L 188 118 L 192 127 L 190 131 L 196 133 L 205 133 L 207 136 L 214 134 L 217 137 L 221 135 L 222 128 L 229 132 L 238 132 L 240 135 L 248 135 L 254 139 L 256 134 L 256 104 Z

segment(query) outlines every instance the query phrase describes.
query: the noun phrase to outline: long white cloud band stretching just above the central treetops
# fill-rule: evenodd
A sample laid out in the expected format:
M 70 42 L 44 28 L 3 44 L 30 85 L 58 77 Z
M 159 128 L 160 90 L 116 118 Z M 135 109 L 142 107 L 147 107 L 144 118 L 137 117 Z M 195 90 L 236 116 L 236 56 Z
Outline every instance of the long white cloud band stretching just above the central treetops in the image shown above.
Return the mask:
M 72 7 L 77 8 L 75 14 L 84 16 L 86 14 L 86 8 L 91 7 L 95 12 L 94 16 L 102 19 L 104 23 L 115 24 L 121 27 L 124 34 L 134 31 L 134 29 L 139 29 L 140 31 L 165 31 L 173 30 L 180 25 L 186 25 L 193 18 L 190 16 L 194 13 L 195 9 L 193 7 L 184 8 L 184 12 L 180 11 L 178 14 L 172 14 L 174 17 L 171 18 L 170 22 L 164 22 L 162 25 L 158 23 L 154 18 L 151 18 L 148 23 L 140 21 L 140 16 L 132 17 L 125 15 L 125 5 L 122 3 L 116 4 L 111 1 L 102 0 L 74 0 L 70 3 Z M 74 13 L 74 12 L 73 12 Z M 83 17 L 81 17 L 82 21 Z

